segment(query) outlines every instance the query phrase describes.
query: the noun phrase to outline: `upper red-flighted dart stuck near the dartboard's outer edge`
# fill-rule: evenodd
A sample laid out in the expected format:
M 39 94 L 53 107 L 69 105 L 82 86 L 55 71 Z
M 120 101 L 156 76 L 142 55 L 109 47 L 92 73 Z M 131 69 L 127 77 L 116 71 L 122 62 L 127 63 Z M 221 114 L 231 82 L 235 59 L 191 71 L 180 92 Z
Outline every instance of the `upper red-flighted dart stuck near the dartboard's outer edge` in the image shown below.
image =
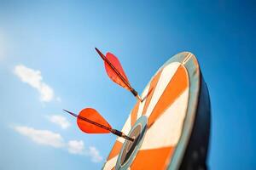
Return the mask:
M 142 101 L 140 96 L 137 94 L 137 91 L 131 87 L 129 80 L 125 75 L 125 71 L 119 62 L 119 59 L 111 53 L 107 53 L 105 56 L 104 54 L 102 54 L 100 50 L 98 50 L 97 48 L 95 49 L 96 49 L 96 52 L 104 60 L 105 70 L 107 71 L 108 77 L 113 82 L 116 82 L 117 84 L 119 84 L 121 87 L 129 90 L 131 94 L 133 94 L 135 97 L 137 97 L 137 99 Z

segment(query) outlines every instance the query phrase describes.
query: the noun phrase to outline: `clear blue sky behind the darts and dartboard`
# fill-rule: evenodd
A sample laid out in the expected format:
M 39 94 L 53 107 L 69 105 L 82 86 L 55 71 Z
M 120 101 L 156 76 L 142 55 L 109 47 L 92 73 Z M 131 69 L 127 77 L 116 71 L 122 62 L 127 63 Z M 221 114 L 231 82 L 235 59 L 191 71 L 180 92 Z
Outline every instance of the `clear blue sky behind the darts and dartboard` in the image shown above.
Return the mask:
M 138 92 L 172 55 L 195 54 L 212 102 L 210 169 L 254 169 L 255 11 L 253 1 L 0 1 L 0 169 L 102 167 L 115 137 L 81 133 L 61 110 L 91 106 L 121 129 L 136 100 L 95 47 L 119 57 Z

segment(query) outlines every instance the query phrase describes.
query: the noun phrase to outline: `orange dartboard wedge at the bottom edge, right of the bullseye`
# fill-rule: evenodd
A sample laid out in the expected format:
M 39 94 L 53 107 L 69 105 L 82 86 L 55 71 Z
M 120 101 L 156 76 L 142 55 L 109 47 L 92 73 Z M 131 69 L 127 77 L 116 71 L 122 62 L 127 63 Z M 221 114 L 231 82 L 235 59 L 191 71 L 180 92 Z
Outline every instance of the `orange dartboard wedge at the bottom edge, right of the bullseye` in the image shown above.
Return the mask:
M 131 164 L 131 170 L 136 169 L 164 169 L 169 162 L 166 158 L 172 156 L 173 147 L 165 147 L 154 150 L 139 150 L 135 160 Z

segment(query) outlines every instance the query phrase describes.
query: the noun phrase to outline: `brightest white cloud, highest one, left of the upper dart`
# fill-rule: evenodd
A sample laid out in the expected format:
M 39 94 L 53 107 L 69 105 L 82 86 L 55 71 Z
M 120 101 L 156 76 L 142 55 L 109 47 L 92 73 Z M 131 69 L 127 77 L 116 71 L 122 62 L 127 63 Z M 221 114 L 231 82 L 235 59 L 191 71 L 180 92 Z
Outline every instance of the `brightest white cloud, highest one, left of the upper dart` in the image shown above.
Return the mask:
M 44 102 L 49 102 L 54 99 L 54 91 L 45 82 L 40 71 L 32 70 L 25 65 L 15 66 L 15 75 L 20 78 L 22 82 L 26 82 L 32 88 L 36 88 L 40 94 L 40 99 Z

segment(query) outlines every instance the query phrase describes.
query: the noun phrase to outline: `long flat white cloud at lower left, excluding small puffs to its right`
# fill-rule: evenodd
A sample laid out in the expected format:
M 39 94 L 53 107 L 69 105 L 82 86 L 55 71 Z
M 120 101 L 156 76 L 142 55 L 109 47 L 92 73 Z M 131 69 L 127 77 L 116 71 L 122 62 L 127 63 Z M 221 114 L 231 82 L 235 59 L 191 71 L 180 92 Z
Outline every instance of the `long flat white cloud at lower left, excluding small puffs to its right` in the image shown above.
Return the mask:
M 61 148 L 65 145 L 61 134 L 59 133 L 53 133 L 49 130 L 38 130 L 25 126 L 17 126 L 15 127 L 15 130 L 18 133 L 32 139 L 32 141 L 36 142 L 37 144 L 50 145 L 55 148 Z

